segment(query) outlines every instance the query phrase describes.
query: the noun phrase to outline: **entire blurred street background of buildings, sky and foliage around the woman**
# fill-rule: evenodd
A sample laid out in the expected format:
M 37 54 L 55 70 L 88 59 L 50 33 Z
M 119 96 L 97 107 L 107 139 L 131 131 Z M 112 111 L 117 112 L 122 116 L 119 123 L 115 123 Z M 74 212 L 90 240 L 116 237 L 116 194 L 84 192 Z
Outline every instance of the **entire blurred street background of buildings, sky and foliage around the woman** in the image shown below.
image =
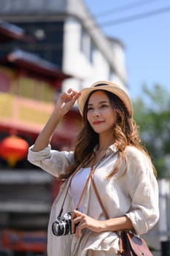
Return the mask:
M 144 235 L 170 255 L 170 4 L 161 0 L 0 0 L 0 256 L 46 256 L 61 181 L 31 165 L 36 140 L 66 89 L 112 80 L 130 94 L 158 171 L 161 217 Z M 77 105 L 51 144 L 72 150 Z

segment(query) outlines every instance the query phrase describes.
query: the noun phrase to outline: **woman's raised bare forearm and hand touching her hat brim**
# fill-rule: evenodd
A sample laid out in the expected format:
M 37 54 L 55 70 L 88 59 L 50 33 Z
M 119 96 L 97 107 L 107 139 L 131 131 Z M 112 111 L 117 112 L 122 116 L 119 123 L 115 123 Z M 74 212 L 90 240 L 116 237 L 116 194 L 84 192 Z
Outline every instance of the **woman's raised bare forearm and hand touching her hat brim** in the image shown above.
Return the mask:
M 47 124 L 45 124 L 45 127 L 42 129 L 42 132 L 37 137 L 32 151 L 41 151 L 43 148 L 48 146 L 55 128 L 63 116 L 69 112 L 79 96 L 80 92 L 74 91 L 72 89 L 69 89 L 67 92 L 64 92 L 60 95 L 52 115 L 47 121 Z

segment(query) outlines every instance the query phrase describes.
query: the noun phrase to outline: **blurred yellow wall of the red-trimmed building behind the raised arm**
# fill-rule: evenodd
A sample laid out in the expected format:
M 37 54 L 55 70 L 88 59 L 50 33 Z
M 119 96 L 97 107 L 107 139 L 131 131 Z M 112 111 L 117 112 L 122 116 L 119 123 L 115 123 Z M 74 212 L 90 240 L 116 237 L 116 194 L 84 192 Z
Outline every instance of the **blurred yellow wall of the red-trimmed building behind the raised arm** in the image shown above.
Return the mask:
M 49 84 L 0 67 L 0 125 L 41 129 L 53 110 L 54 96 Z

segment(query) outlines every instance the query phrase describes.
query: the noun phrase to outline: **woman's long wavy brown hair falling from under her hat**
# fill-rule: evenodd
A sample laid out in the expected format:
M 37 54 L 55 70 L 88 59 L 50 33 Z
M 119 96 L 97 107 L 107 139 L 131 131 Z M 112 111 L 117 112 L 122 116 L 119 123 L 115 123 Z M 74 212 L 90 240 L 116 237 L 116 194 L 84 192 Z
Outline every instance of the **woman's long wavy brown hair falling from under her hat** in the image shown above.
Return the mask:
M 100 91 L 100 89 L 98 89 L 98 91 Z M 74 146 L 74 162 L 72 165 L 69 165 L 69 167 L 67 167 L 66 169 L 66 172 L 63 175 L 61 175 L 60 178 L 63 180 L 69 178 L 69 176 L 71 176 L 72 173 L 74 173 L 74 170 L 76 170 L 80 164 L 83 165 L 85 164 L 85 162 L 88 162 L 89 159 L 93 157 L 93 148 L 98 146 L 98 133 L 94 132 L 92 127 L 90 127 L 87 118 L 88 100 L 93 93 L 94 91 L 92 91 L 89 94 L 88 99 L 85 102 L 85 108 L 83 110 L 82 116 L 82 129 L 80 133 L 77 135 L 77 140 L 75 141 Z M 110 178 L 114 176 L 115 173 L 117 173 L 117 170 L 119 170 L 123 160 L 125 161 L 124 173 L 126 172 L 126 146 L 134 146 L 138 148 L 148 157 L 148 159 L 150 159 L 150 155 L 147 153 L 146 148 L 144 148 L 144 146 L 142 145 L 141 140 L 139 138 L 139 127 L 136 125 L 134 119 L 128 115 L 128 110 L 125 108 L 123 101 L 115 94 L 112 94 L 109 91 L 104 91 L 104 93 L 107 94 L 107 97 L 109 98 L 109 101 L 111 102 L 112 107 L 115 109 L 117 114 L 117 121 L 115 122 L 112 132 L 115 138 L 115 143 L 117 145 L 118 157 L 114 169 L 108 176 L 108 178 Z M 156 175 L 156 170 L 154 166 L 153 170 Z

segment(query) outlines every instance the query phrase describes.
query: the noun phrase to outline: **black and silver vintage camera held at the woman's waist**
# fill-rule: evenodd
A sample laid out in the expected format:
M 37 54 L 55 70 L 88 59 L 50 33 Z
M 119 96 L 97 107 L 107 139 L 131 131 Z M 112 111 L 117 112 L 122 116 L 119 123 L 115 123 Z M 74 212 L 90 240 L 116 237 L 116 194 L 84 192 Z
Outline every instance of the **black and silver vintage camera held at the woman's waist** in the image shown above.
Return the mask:
M 53 222 L 52 230 L 55 236 L 72 234 L 72 212 L 64 214 L 63 217 L 58 217 L 58 221 Z

